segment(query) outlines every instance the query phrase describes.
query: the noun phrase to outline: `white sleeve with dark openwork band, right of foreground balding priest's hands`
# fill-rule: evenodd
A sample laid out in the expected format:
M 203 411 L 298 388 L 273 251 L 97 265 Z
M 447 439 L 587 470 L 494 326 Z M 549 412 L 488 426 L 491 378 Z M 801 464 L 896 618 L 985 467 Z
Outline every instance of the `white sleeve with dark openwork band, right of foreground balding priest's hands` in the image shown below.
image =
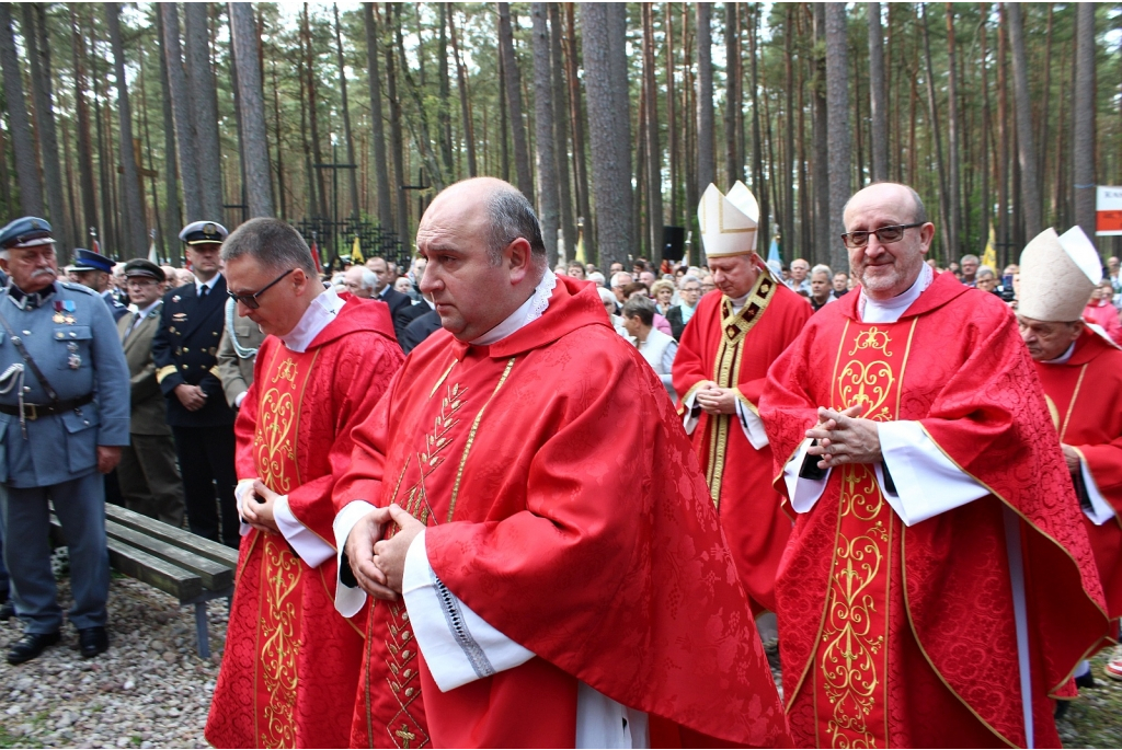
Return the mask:
M 441 692 L 517 667 L 533 651 L 504 636 L 449 591 L 429 564 L 425 533 L 410 543 L 402 596 L 413 636 Z

